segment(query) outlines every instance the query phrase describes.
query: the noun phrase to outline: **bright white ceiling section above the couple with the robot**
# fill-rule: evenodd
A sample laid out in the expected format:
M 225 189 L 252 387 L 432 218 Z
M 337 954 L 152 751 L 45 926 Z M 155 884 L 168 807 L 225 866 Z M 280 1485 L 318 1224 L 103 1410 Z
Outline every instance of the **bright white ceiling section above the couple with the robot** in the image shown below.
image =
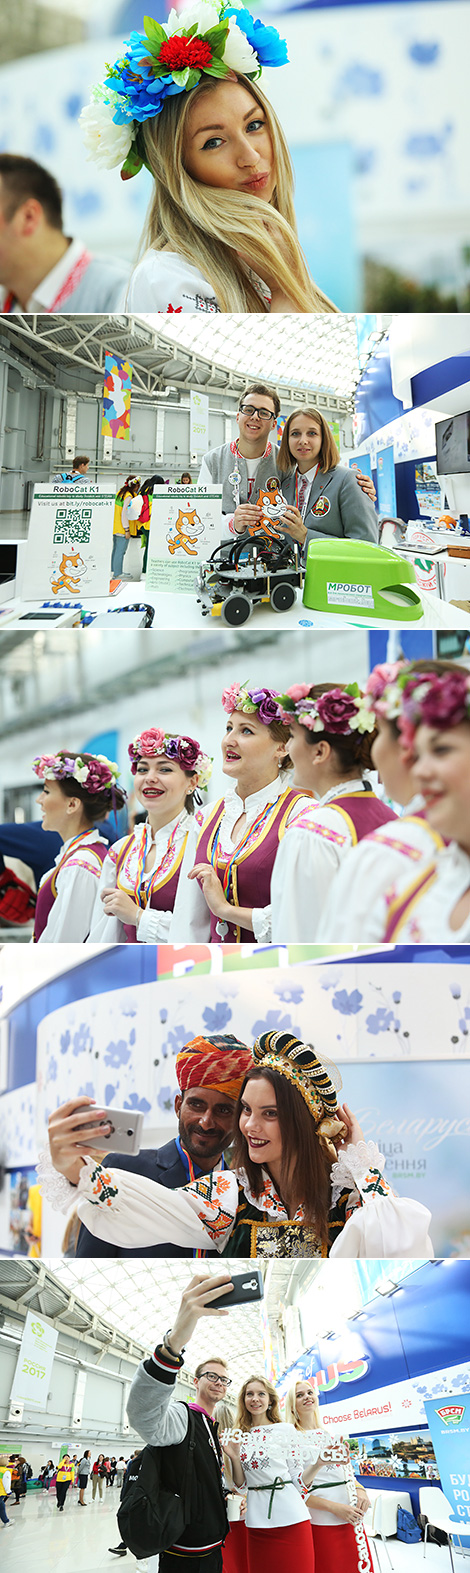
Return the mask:
M 358 382 L 355 316 L 198 316 L 193 311 L 165 319 L 146 313 L 141 319 L 160 338 L 244 376 L 324 389 L 340 398 L 349 398 Z M 382 337 L 379 324 L 374 337 Z

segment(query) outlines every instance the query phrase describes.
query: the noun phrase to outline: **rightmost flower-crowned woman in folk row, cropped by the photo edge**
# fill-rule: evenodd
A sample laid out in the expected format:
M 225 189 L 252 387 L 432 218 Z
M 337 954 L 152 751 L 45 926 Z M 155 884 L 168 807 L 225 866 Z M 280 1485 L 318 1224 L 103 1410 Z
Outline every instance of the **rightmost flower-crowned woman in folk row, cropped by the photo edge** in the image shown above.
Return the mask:
M 470 939 L 470 673 L 423 661 L 398 683 L 399 728 L 415 755 L 415 785 L 429 826 L 448 845 L 426 867 L 423 859 L 415 878 L 407 868 L 388 887 L 380 938 L 456 944 Z

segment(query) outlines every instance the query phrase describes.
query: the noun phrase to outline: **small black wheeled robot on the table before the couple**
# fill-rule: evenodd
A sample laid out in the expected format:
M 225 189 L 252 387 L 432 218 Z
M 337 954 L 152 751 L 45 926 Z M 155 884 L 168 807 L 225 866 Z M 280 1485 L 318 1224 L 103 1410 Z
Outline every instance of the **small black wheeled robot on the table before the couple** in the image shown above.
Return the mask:
M 222 541 L 198 571 L 198 604 L 203 617 L 220 617 L 229 628 L 241 628 L 253 607 L 266 602 L 274 612 L 288 612 L 302 590 L 300 547 L 286 535 L 274 538 L 263 530 Z

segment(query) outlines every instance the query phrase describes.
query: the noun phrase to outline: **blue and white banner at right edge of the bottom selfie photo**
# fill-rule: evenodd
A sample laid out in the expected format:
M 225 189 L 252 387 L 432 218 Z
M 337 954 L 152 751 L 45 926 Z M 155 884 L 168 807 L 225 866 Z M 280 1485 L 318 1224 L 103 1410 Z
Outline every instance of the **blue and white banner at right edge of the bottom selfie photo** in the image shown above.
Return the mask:
M 424 1403 L 443 1494 L 453 1518 L 470 1524 L 470 1394 Z

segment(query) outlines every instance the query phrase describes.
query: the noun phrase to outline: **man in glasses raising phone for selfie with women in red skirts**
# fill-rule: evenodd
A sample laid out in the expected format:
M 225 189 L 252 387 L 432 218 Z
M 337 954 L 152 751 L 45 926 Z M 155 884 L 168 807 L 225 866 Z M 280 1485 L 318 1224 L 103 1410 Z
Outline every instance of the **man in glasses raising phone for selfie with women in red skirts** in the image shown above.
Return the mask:
M 217 1299 L 231 1288 L 228 1273 L 192 1277 L 179 1310 L 154 1354 L 138 1367 L 129 1394 L 129 1422 L 151 1447 L 174 1452 L 165 1460 L 168 1488 L 181 1491 L 189 1455 L 189 1409 L 195 1419 L 192 1515 L 178 1545 L 160 1553 L 159 1573 L 220 1573 L 222 1543 L 228 1534 L 222 1486 L 222 1449 L 214 1420 L 215 1403 L 231 1386 L 226 1361 L 209 1354 L 195 1370 L 195 1402 L 171 1403 L 184 1351 L 201 1317 L 226 1317 Z

